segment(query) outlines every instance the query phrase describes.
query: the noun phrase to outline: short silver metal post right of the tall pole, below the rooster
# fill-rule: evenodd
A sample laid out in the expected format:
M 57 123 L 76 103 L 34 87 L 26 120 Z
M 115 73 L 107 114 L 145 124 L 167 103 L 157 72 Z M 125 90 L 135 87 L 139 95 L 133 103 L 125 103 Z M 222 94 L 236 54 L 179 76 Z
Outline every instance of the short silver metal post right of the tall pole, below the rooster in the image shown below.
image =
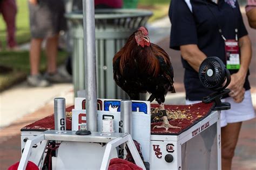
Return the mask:
M 132 101 L 121 101 L 121 121 L 123 123 L 123 133 L 130 133 L 132 136 Z

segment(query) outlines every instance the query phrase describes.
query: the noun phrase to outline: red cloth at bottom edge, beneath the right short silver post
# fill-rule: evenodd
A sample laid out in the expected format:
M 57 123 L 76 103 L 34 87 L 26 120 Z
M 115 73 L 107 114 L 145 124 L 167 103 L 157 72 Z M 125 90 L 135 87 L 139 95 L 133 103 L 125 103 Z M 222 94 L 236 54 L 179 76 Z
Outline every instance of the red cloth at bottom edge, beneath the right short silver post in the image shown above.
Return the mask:
M 110 160 L 109 170 L 142 170 L 142 168 L 127 160 L 113 158 Z

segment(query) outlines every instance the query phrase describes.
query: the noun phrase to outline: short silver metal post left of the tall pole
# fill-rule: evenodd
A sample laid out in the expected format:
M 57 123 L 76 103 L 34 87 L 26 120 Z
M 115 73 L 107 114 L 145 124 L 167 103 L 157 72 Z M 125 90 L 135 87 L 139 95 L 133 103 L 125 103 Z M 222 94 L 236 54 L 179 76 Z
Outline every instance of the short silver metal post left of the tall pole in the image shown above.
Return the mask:
M 66 130 L 66 104 L 65 98 L 54 99 L 54 125 L 55 130 Z

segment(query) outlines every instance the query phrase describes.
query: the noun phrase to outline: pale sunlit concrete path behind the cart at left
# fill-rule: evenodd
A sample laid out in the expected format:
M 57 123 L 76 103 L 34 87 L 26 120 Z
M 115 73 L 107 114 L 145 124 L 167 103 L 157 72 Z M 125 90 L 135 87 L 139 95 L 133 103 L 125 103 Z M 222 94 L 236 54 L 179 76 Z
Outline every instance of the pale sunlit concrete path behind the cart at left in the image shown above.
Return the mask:
M 58 70 L 63 66 L 60 66 Z M 0 130 L 26 114 L 38 110 L 53 98 L 65 96 L 72 91 L 72 83 L 53 84 L 50 87 L 30 87 L 24 81 L 0 93 Z M 73 104 L 72 97 L 66 98 L 66 104 Z

